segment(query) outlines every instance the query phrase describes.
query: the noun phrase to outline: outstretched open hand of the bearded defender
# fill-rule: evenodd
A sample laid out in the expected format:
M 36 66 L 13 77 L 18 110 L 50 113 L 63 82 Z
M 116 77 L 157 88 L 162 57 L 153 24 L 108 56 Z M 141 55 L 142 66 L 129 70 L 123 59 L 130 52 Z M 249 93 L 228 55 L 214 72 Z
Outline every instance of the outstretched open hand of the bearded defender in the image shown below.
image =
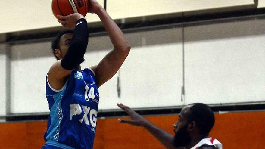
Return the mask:
M 142 126 L 142 127 L 148 127 L 149 126 L 149 122 L 148 120 L 146 120 L 145 118 L 143 118 L 141 115 L 139 115 L 138 113 L 136 113 L 134 110 L 132 110 L 131 108 L 121 104 L 121 103 L 117 103 L 117 106 L 120 107 L 122 110 L 124 110 L 126 113 L 129 114 L 129 116 L 131 117 L 131 120 L 121 120 L 118 119 L 118 121 L 120 123 L 127 123 L 133 126 Z

